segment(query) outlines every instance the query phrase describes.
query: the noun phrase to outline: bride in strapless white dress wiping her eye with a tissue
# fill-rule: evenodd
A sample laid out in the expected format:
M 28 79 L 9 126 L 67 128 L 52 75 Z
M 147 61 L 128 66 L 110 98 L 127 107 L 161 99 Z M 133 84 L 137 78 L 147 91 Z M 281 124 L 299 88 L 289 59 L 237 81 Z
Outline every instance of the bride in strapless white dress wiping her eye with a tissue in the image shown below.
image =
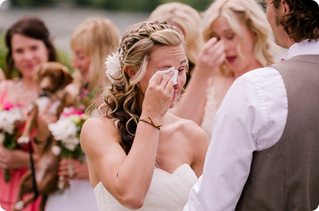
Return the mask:
M 208 147 L 198 125 L 168 113 L 186 81 L 184 37 L 166 22 L 135 24 L 106 66 L 101 115 L 80 138 L 99 210 L 182 210 Z

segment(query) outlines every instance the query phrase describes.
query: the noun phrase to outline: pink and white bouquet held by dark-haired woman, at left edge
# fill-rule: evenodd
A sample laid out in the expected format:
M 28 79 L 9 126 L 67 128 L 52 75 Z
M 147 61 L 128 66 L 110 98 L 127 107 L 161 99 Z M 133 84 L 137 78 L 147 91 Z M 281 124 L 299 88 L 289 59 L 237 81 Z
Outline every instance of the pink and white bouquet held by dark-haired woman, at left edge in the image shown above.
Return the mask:
M 0 104 L 0 144 L 13 150 L 18 148 L 17 139 L 21 136 L 24 118 L 21 104 L 4 102 Z M 4 171 L 6 182 L 11 181 L 9 169 Z

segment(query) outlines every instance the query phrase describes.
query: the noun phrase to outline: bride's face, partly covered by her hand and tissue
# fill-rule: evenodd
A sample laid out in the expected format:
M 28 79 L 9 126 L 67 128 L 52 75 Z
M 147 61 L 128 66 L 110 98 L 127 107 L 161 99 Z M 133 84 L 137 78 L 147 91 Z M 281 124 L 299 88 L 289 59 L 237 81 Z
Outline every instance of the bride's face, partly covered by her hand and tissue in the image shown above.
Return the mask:
M 179 71 L 177 76 L 177 84 L 175 84 L 173 99 L 170 108 L 176 104 L 177 96 L 181 92 L 182 87 L 186 82 L 185 68 L 187 66 L 187 57 L 183 45 L 178 46 L 160 46 L 156 47 L 150 55 L 150 60 L 146 66 L 146 72 L 142 80 L 140 80 L 140 88 L 142 97 L 145 94 L 149 79 L 157 70 L 166 70 L 170 67 L 175 67 Z

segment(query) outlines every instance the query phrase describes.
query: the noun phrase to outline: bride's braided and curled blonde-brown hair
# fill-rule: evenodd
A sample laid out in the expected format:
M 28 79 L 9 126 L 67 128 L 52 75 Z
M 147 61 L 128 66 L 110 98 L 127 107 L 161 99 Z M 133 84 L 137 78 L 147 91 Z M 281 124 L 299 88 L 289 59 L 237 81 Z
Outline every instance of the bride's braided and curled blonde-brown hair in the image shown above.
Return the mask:
M 152 51 L 158 46 L 186 46 L 180 31 L 167 22 L 143 21 L 129 27 L 119 40 L 121 77 L 105 87 L 100 96 L 99 111 L 110 118 L 121 136 L 121 146 L 128 154 L 131 149 L 137 120 L 141 114 L 138 102 L 138 82 L 144 77 Z M 186 47 L 185 47 L 186 51 Z M 130 78 L 125 67 L 136 70 Z

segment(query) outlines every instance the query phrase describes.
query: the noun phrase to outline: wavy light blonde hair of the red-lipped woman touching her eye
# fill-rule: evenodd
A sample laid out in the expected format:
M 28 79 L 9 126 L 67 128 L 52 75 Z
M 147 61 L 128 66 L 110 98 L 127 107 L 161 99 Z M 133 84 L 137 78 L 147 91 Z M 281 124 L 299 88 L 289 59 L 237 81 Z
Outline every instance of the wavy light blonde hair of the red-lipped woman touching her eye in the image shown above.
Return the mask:
M 254 54 L 262 66 L 275 62 L 273 53 L 278 49 L 272 39 L 272 30 L 267 21 L 266 14 L 255 0 L 216 0 L 203 13 L 202 30 L 204 41 L 207 42 L 214 36 L 212 23 L 219 17 L 224 17 L 231 29 L 243 39 L 238 23 L 238 17 L 246 24 L 248 30 L 256 36 Z M 241 54 L 240 46 L 237 47 Z M 232 72 L 226 65 L 220 67 L 222 75 Z

